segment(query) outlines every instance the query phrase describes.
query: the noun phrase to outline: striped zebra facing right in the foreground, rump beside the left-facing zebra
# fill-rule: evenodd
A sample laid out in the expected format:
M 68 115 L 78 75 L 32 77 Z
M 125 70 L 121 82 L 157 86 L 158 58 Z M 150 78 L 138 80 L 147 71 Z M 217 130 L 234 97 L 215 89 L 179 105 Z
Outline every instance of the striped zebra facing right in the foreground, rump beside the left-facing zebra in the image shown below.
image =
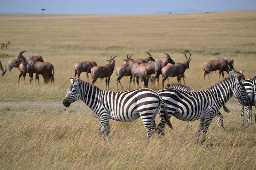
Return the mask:
M 165 88 L 157 91 L 157 93 L 163 98 L 169 117 L 174 116 L 185 121 L 200 119 L 196 141 L 198 142 L 200 133 L 203 131 L 203 143 L 212 118 L 217 116 L 220 107 L 230 97 L 234 96 L 248 105 L 250 99 L 242 81 L 244 81 L 244 75 L 239 74 L 225 78 L 206 90 L 182 91 Z M 162 108 L 159 114 L 160 123 L 157 126 L 157 133 L 164 136 L 164 125 L 168 122 L 164 119 Z

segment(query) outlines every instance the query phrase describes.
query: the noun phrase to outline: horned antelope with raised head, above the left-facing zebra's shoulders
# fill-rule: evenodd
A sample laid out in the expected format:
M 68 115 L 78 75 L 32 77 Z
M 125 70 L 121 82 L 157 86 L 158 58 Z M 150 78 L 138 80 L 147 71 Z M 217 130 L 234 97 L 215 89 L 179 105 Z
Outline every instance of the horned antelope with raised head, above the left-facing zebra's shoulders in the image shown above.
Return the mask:
M 106 90 L 107 87 L 109 87 L 109 79 L 111 74 L 114 71 L 115 68 L 115 61 L 116 56 L 112 58 L 113 55 L 110 56 L 110 60 L 107 60 L 109 63 L 106 64 L 105 66 L 94 66 L 91 68 L 91 74 L 92 74 L 92 84 L 96 82 L 98 78 L 105 78 L 106 81 Z

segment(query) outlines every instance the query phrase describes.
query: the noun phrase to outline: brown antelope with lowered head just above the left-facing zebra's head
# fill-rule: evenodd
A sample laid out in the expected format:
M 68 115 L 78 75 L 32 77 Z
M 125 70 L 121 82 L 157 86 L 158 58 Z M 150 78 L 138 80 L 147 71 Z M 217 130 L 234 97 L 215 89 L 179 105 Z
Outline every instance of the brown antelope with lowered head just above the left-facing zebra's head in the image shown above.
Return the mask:
M 82 72 L 86 72 L 86 78 L 87 80 L 89 79 L 88 73 L 91 73 L 91 68 L 97 66 L 95 61 L 82 61 L 82 62 L 77 62 L 74 64 L 74 70 L 75 70 L 75 75 L 74 77 L 77 77 L 80 79 L 80 74 Z

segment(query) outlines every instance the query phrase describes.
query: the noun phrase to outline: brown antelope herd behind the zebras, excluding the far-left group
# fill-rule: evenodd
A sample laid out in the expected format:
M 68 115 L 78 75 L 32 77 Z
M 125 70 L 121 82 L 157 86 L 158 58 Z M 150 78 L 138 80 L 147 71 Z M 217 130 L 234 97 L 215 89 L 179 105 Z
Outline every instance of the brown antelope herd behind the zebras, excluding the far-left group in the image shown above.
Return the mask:
M 122 90 L 123 85 L 121 84 L 121 78 L 123 76 L 130 76 L 130 82 L 128 89 L 130 89 L 130 84 L 133 81 L 133 89 L 135 88 L 135 79 L 136 79 L 136 88 L 140 88 L 139 80 L 142 82 L 142 88 L 148 87 L 148 82 L 151 84 L 156 81 L 156 88 L 159 86 L 159 76 L 162 74 L 161 87 L 164 88 L 164 81 L 168 79 L 168 77 L 177 77 L 177 82 L 181 83 L 181 79 L 185 84 L 185 70 L 189 68 L 189 62 L 191 53 L 189 53 L 189 57 L 187 57 L 186 53 L 184 62 L 175 63 L 168 53 L 164 53 L 166 57 L 153 57 L 150 53 L 147 52 L 148 56 L 144 59 L 131 59 L 132 54 L 127 54 L 127 58 L 123 59 L 124 64 L 116 67 L 116 75 L 118 76 L 116 79 L 116 90 L 118 90 L 118 83 L 120 84 Z M 108 90 L 109 79 L 112 73 L 114 72 L 115 60 L 112 58 L 113 55 L 110 56 L 110 60 L 107 60 L 109 63 L 105 66 L 97 66 L 95 61 L 83 61 L 77 62 L 74 64 L 75 77 L 80 78 L 80 74 L 82 72 L 86 72 L 86 78 L 88 80 L 88 73 L 92 74 L 92 83 L 94 84 L 97 78 L 105 78 L 106 80 L 106 90 Z M 209 60 L 204 63 L 204 78 L 207 75 L 209 81 L 209 74 L 212 71 L 219 70 L 219 78 L 220 74 L 222 74 L 224 78 L 224 71 L 227 73 L 228 70 L 234 70 L 233 67 L 234 60 L 231 58 L 220 58 L 217 57 L 215 60 Z M 168 80 L 169 82 L 169 80 Z

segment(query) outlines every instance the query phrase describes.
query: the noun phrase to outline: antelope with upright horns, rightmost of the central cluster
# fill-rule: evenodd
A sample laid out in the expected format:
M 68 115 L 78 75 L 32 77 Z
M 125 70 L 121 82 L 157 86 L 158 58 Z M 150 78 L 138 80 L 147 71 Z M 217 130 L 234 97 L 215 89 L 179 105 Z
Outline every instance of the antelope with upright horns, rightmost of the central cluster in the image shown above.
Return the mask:
M 186 56 L 186 59 L 184 59 L 183 63 L 175 63 L 175 64 L 167 64 L 166 66 L 164 66 L 162 68 L 162 74 L 163 74 L 163 78 L 162 78 L 162 88 L 164 88 L 164 81 L 168 78 L 168 77 L 177 77 L 177 82 L 180 83 L 181 82 L 181 78 L 183 79 L 184 84 L 185 83 L 185 76 L 184 76 L 184 72 L 187 68 L 189 68 L 189 62 L 190 62 L 190 56 L 191 54 L 189 53 L 189 58 Z

